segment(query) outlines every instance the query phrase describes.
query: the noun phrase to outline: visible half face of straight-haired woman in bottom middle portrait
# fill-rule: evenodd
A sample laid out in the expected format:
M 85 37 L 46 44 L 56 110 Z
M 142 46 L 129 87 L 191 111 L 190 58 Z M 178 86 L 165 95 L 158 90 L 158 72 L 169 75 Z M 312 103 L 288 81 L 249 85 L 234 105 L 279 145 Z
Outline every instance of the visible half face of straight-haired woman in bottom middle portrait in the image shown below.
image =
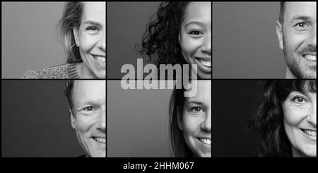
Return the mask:
M 179 129 L 194 157 L 211 157 L 211 81 L 199 80 L 196 95 L 186 97 Z

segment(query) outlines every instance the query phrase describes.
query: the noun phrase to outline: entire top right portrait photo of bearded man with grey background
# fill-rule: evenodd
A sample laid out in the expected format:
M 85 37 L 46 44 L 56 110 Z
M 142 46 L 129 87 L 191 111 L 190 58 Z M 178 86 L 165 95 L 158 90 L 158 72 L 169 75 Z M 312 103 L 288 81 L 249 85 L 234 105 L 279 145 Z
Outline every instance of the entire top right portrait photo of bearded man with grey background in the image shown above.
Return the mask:
M 213 78 L 316 79 L 316 2 L 213 2 Z

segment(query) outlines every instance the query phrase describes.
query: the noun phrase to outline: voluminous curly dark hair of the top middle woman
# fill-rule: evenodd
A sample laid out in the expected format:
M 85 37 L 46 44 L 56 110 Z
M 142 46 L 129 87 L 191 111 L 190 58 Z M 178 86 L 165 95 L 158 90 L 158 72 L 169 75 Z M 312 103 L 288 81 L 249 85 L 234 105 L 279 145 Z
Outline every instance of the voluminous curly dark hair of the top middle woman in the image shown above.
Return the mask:
M 189 2 L 161 2 L 158 12 L 151 17 L 142 36 L 141 56 L 146 55 L 159 64 L 187 64 L 181 52 L 178 35 Z M 155 18 L 156 16 L 156 18 Z

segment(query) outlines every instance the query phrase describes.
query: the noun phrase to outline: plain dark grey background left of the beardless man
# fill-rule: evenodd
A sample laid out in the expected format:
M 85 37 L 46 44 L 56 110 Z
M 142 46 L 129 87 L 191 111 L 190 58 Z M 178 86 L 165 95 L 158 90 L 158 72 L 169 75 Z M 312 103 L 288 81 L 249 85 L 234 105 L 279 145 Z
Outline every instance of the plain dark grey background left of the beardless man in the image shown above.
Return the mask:
M 2 157 L 78 157 L 63 80 L 2 80 Z

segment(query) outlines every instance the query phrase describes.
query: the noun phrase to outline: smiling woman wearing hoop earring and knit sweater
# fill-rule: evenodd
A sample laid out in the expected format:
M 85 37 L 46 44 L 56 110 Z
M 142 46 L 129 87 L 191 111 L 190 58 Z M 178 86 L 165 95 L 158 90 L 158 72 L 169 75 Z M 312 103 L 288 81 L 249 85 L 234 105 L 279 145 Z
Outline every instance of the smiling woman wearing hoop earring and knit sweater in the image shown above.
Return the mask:
M 59 21 L 66 64 L 26 71 L 21 78 L 105 78 L 105 2 L 67 2 Z

